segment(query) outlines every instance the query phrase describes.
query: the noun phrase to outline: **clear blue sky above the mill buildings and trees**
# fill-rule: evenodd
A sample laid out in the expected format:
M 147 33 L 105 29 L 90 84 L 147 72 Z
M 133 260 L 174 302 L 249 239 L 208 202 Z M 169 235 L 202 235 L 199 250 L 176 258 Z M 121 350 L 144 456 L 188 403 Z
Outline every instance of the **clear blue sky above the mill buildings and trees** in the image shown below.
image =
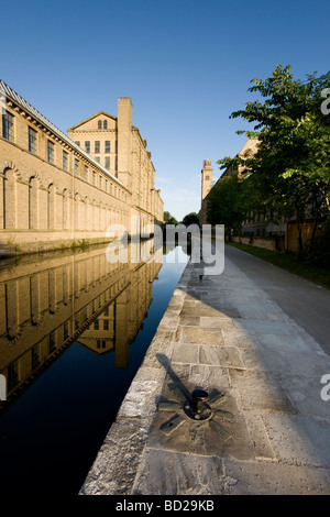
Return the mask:
M 277 64 L 330 69 L 329 0 L 2 2 L 0 78 L 66 131 L 130 97 L 165 210 L 200 209 L 200 170 L 245 142 L 232 111 Z

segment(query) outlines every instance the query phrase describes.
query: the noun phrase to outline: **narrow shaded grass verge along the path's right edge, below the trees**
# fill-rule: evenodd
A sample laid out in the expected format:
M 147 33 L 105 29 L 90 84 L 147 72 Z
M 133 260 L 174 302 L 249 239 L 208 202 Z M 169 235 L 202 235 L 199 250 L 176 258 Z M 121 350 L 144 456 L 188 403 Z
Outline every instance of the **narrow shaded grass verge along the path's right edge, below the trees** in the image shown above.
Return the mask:
M 293 253 L 282 253 L 278 251 L 264 250 L 263 248 L 251 246 L 238 242 L 227 242 L 226 244 L 237 248 L 238 250 L 257 256 L 263 261 L 270 262 L 283 270 L 288 271 L 297 276 L 301 276 L 314 284 L 330 289 L 330 271 L 318 267 L 312 264 L 306 264 Z

